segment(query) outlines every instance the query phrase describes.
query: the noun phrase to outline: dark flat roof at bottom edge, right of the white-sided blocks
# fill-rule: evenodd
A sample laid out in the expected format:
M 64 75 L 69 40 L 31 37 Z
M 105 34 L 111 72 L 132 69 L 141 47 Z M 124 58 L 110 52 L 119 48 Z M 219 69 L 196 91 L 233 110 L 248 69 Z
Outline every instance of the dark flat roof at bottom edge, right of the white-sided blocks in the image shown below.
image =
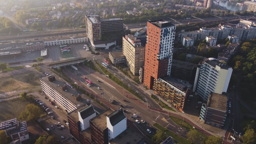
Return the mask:
M 119 134 L 115 139 L 109 141 L 111 144 L 133 144 L 139 143 L 144 137 L 137 131 L 127 128 L 124 132 Z

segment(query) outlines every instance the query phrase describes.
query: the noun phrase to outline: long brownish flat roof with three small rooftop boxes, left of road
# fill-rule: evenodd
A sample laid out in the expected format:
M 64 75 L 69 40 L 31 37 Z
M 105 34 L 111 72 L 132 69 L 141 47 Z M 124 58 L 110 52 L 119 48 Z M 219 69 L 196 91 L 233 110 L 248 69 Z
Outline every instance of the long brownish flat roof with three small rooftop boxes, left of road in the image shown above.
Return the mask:
M 48 80 L 48 77 L 51 77 L 51 76 L 55 77 L 55 81 L 50 82 Z M 53 89 L 58 91 L 61 95 L 66 97 L 69 101 L 71 101 L 77 107 L 80 107 L 80 106 L 82 106 L 86 103 L 85 95 L 83 93 L 79 92 L 75 87 L 73 87 L 73 86 L 70 87 L 71 85 L 68 84 L 68 82 L 61 79 L 59 76 L 57 76 L 55 74 L 50 74 L 48 76 L 41 77 L 40 79 L 42 81 L 44 81 L 45 83 L 47 83 L 48 85 L 50 85 Z M 61 86 L 63 86 L 63 85 L 67 85 L 67 90 L 66 91 L 61 90 Z M 70 86 L 68 86 L 68 85 L 70 85 Z M 81 95 L 81 99 L 80 100 L 75 100 L 75 97 L 78 94 Z

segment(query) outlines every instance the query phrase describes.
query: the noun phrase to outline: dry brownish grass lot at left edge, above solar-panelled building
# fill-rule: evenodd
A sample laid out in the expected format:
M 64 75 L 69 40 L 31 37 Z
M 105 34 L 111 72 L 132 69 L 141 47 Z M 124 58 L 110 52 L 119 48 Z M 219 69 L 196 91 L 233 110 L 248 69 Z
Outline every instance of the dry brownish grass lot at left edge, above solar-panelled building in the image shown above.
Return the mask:
M 20 112 L 26 108 L 29 101 L 23 100 L 21 98 L 3 101 L 0 104 L 0 121 L 5 121 L 12 118 L 18 118 Z

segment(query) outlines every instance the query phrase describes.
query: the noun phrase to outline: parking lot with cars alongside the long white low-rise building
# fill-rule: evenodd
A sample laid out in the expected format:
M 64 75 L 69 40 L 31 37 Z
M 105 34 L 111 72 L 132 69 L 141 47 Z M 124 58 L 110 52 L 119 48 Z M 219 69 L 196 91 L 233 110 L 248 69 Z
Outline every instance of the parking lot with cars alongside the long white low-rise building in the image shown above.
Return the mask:
M 67 112 L 61 108 L 56 108 L 56 104 L 53 105 L 50 103 L 48 98 L 45 98 L 43 95 L 37 98 L 38 101 L 43 102 L 44 104 L 39 104 L 39 106 L 49 108 L 47 111 L 44 109 L 46 116 L 42 117 L 41 127 L 45 132 L 49 134 L 55 135 L 59 142 L 65 140 L 65 142 L 76 144 L 77 141 L 71 138 L 69 134 L 69 127 L 66 124 L 68 121 L 67 119 Z M 52 112 L 51 114 L 48 114 Z M 65 121 L 65 122 L 64 122 Z M 61 124 L 58 124 L 61 123 Z M 63 128 L 61 127 L 63 125 Z M 64 137 L 64 138 L 61 138 Z

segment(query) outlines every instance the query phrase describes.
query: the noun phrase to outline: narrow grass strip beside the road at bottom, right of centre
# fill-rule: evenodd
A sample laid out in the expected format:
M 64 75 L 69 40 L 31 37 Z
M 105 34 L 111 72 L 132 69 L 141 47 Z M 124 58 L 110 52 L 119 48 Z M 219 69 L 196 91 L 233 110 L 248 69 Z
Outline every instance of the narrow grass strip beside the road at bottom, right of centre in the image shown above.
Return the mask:
M 159 129 L 160 131 L 166 133 L 167 135 L 171 136 L 174 140 L 176 141 L 179 141 L 180 143 L 182 144 L 191 144 L 191 141 L 188 141 L 186 138 L 172 132 L 172 131 L 169 131 L 168 129 L 162 127 L 161 125 L 159 124 L 153 124 L 153 126 L 155 126 L 157 129 Z

